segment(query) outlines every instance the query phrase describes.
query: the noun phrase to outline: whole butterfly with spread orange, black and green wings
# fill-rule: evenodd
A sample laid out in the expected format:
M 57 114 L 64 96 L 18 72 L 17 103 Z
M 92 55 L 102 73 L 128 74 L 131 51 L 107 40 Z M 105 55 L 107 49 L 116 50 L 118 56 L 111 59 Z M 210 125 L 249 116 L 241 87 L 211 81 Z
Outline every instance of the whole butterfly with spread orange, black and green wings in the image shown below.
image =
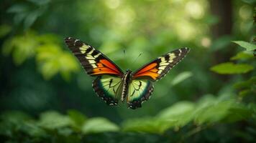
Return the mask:
M 142 102 L 150 99 L 153 92 L 153 82 L 164 77 L 168 71 L 188 54 L 188 48 L 176 49 L 168 54 L 159 56 L 137 71 L 127 69 L 124 73 L 108 57 L 72 37 L 65 38 L 65 44 L 81 62 L 83 69 L 93 80 L 93 89 L 108 105 L 117 105 L 119 99 L 127 101 L 127 107 L 137 109 Z

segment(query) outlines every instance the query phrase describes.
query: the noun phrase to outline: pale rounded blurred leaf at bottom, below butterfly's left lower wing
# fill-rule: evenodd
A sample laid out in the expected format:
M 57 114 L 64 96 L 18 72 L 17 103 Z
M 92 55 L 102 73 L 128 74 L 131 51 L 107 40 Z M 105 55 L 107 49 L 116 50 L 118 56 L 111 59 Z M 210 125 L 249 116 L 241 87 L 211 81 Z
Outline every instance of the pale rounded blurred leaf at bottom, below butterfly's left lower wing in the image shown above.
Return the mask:
M 116 131 L 119 131 L 119 127 L 102 117 L 88 119 L 82 127 L 83 134 Z

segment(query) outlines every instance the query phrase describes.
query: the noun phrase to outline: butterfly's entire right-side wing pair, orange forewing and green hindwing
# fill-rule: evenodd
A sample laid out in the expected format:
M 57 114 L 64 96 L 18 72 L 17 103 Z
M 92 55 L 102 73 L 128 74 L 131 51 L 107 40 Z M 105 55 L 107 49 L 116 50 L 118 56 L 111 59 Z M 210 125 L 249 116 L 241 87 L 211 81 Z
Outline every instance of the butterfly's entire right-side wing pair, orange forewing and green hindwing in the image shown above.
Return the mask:
M 132 74 L 132 82 L 129 84 L 127 106 L 131 109 L 141 107 L 142 102 L 147 101 L 153 92 L 152 82 L 164 77 L 175 64 L 178 64 L 186 56 L 188 51 L 188 48 L 171 51 L 135 71 Z

